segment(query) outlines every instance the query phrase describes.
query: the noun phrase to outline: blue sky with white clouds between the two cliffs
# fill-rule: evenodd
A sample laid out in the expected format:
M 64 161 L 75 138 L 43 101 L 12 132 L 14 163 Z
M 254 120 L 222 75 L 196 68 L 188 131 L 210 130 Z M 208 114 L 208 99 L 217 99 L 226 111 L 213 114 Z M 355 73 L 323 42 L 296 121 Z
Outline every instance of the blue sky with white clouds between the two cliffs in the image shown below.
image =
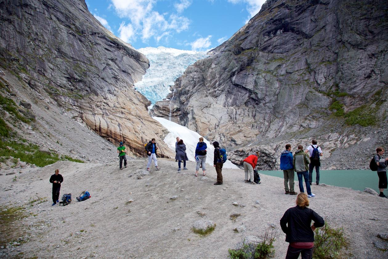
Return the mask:
M 135 49 L 206 51 L 230 38 L 265 0 L 86 0 L 89 11 Z

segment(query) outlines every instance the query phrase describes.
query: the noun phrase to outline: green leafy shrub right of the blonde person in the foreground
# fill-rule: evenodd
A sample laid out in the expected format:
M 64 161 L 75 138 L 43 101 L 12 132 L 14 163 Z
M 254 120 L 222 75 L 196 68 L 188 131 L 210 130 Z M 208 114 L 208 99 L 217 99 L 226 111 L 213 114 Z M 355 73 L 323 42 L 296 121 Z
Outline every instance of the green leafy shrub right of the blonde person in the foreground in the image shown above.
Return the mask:
M 315 229 L 314 252 L 316 259 L 339 259 L 343 248 L 348 247 L 343 228 L 331 228 L 325 223 L 322 228 Z

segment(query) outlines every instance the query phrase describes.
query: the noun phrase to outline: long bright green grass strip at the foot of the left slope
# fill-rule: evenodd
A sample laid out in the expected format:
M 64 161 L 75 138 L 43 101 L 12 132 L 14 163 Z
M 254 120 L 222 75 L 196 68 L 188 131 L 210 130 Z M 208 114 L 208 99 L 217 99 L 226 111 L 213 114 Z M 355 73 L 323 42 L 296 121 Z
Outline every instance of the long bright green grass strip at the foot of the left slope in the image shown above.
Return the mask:
M 11 149 L 7 148 L 10 147 Z M 15 141 L 2 141 L 0 140 L 0 157 L 12 156 L 19 158 L 20 161 L 35 164 L 38 167 L 44 167 L 51 165 L 59 160 L 67 160 L 72 162 L 84 163 L 82 160 L 71 158 L 67 155 L 59 156 L 57 153 L 52 152 L 47 154 L 39 151 L 39 147 L 35 144 L 17 143 Z

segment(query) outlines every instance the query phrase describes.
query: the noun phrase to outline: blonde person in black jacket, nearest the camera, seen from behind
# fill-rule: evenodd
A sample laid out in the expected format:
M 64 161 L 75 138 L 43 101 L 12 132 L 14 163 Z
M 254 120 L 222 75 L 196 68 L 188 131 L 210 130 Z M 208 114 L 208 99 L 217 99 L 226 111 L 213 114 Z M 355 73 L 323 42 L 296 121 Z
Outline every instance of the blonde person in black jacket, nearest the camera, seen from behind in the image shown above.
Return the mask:
M 309 201 L 305 193 L 296 196 L 296 206 L 289 208 L 280 220 L 282 231 L 289 242 L 286 259 L 311 259 L 314 247 L 314 230 L 324 226 L 325 221 L 314 210 L 307 208 Z M 311 225 L 311 221 L 314 224 Z

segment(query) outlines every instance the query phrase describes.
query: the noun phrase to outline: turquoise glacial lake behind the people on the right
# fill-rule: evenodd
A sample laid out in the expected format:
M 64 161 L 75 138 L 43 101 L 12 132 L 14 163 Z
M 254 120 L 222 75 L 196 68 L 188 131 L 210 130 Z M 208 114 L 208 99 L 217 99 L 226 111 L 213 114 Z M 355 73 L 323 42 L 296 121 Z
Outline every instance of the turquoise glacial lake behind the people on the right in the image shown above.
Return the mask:
M 259 171 L 259 174 L 267 174 L 269 176 L 283 178 L 282 170 L 263 170 Z M 316 174 L 314 170 L 313 184 L 315 183 L 315 176 Z M 364 189 L 368 187 L 379 193 L 379 177 L 377 176 L 377 172 L 372 172 L 371 170 L 319 170 L 319 178 L 319 183 L 347 187 L 359 191 L 364 191 Z M 265 181 L 265 179 L 263 180 Z M 298 176 L 296 176 L 296 173 L 294 180 L 298 182 Z

